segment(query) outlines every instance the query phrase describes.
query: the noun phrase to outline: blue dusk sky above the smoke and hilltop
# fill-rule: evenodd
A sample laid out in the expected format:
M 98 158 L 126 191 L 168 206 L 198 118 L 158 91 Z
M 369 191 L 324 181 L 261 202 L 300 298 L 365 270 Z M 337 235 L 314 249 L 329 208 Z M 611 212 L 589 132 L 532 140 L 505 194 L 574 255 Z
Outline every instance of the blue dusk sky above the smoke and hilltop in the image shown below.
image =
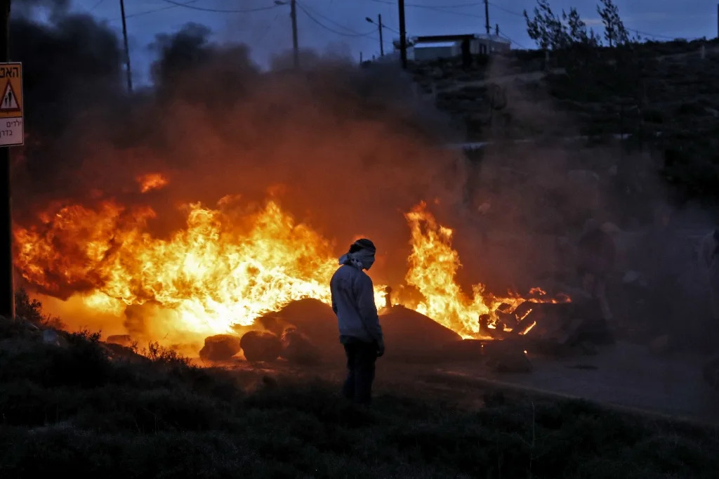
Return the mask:
M 91 12 L 122 35 L 119 0 L 72 0 L 78 12 Z M 551 0 L 556 12 L 575 6 L 587 24 L 601 31 L 596 12 L 598 0 Z M 178 6 L 177 4 L 188 4 Z M 534 0 L 490 1 L 490 23 L 513 40 L 513 47 L 534 47 L 526 34 L 523 9 L 531 10 Z M 717 0 L 615 0 L 626 27 L 641 37 L 665 40 L 717 36 Z M 262 9 L 255 12 L 232 12 Z M 209 11 L 215 10 L 215 11 Z M 224 12 L 222 12 L 224 11 Z M 252 58 L 260 65 L 291 47 L 290 6 L 276 6 L 274 0 L 125 0 L 130 54 L 134 77 L 146 83 L 147 64 L 153 54 L 148 45 L 155 35 L 177 31 L 187 22 L 204 24 L 214 32 L 214 40 L 246 43 Z M 331 51 L 359 60 L 379 55 L 376 25 L 365 17 L 382 14 L 385 53 L 398 37 L 398 8 L 393 0 L 298 0 L 300 47 Z M 480 33 L 485 31 L 482 1 L 407 0 L 408 35 Z M 136 67 L 136 68 L 135 68 Z

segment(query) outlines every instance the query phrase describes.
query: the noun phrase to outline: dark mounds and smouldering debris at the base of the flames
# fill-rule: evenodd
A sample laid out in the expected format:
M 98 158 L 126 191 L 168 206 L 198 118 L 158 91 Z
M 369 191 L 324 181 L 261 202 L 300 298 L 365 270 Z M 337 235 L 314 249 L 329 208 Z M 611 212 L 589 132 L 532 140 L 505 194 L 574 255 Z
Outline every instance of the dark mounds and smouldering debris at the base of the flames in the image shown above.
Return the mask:
M 561 299 L 561 297 L 560 297 Z M 525 301 L 500 304 L 477 318 L 477 338 L 462 338 L 434 319 L 392 306 L 381 310 L 380 323 L 389 360 L 473 360 L 500 373 L 528 373 L 528 351 L 566 355 L 587 354 L 597 345 L 613 342 L 595 301 Z M 293 301 L 273 314 L 255 320 L 242 334 L 207 337 L 200 351 L 203 361 L 247 360 L 250 363 L 288 362 L 316 365 L 342 356 L 336 318 L 321 301 Z

